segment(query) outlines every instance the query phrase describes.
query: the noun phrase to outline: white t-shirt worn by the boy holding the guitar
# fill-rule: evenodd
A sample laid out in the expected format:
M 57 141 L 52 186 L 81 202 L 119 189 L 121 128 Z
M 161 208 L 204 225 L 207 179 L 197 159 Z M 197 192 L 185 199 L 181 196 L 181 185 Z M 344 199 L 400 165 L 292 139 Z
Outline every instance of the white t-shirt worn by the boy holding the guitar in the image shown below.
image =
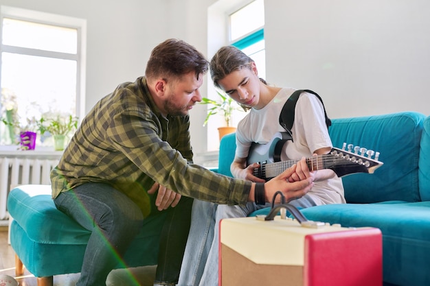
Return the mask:
M 249 113 L 238 123 L 236 130 L 236 156 L 247 158 L 253 142 L 266 144 L 276 132 L 285 132 L 280 126 L 279 116 L 288 97 L 295 89 L 282 88 L 264 108 L 251 108 Z M 315 150 L 332 147 L 328 135 L 324 107 L 321 101 L 310 93 L 302 93 L 295 106 L 294 123 L 291 128 L 293 141 L 283 147 L 282 160 L 299 160 L 303 156 L 312 156 Z M 328 180 L 315 182 L 308 192 L 315 204 L 345 203 L 341 178 L 335 176 Z

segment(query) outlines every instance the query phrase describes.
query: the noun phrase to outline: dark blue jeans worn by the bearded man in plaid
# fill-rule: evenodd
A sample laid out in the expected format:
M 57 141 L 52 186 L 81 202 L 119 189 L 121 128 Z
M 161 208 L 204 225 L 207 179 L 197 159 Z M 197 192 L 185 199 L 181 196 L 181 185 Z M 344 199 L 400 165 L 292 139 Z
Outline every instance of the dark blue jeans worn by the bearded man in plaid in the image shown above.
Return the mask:
M 106 278 L 120 262 L 142 228 L 142 211 L 124 193 L 109 184 L 87 183 L 60 193 L 56 207 L 91 231 L 77 286 L 106 286 Z M 179 208 L 178 208 L 179 206 Z M 192 199 L 181 198 L 169 208 L 161 231 L 156 281 L 174 285 L 185 249 Z M 166 253 L 169 252 L 167 259 Z

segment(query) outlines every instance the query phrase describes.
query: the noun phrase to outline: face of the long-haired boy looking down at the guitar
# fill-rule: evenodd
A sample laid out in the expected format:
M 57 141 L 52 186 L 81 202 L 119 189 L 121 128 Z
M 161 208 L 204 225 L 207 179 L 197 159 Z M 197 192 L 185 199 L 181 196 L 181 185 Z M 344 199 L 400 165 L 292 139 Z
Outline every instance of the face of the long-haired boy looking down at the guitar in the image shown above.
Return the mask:
M 260 79 L 258 78 L 256 64 L 251 63 L 251 68 L 242 67 L 218 80 L 221 88 L 239 104 L 250 108 L 258 108 L 260 101 Z

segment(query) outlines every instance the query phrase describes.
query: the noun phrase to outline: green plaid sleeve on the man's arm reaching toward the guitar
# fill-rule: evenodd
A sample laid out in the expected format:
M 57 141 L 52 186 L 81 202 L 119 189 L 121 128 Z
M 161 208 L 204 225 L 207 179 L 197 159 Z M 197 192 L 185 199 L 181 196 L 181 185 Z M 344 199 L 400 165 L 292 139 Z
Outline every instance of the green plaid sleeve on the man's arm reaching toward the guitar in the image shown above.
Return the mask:
M 162 140 L 161 124 L 150 112 L 124 111 L 113 117 L 107 136 L 144 174 L 155 182 L 181 195 L 219 204 L 245 204 L 251 183 L 215 174 L 199 165 L 190 164 L 191 148 L 185 141 L 188 132 L 181 132 L 178 141 L 186 157 Z M 188 127 L 187 127 L 188 128 Z

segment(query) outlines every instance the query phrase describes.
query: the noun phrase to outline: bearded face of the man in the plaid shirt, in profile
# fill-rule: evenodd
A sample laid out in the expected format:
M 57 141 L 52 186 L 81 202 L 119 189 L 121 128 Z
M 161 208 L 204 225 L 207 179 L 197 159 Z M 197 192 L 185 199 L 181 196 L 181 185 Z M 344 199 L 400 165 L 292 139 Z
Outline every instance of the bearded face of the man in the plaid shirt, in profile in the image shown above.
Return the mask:
M 196 102 L 201 102 L 200 86 L 203 84 L 203 74 L 196 78 L 193 72 L 167 84 L 166 100 L 163 102 L 164 112 L 168 115 L 188 115 Z

